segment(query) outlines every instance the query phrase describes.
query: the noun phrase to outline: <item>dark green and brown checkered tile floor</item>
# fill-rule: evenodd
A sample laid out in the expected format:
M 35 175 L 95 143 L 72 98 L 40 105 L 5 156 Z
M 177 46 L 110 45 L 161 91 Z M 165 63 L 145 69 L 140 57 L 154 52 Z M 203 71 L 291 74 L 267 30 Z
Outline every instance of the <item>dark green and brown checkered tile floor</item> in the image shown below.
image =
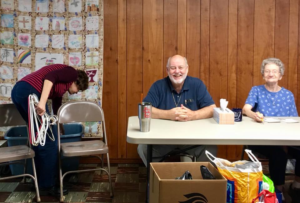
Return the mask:
M 99 168 L 97 164 L 81 164 L 80 169 Z M 104 167 L 107 169 L 107 167 Z M 69 194 L 64 202 L 145 202 L 146 167 L 143 164 L 111 164 L 114 197 L 110 197 L 108 175 L 96 171 L 78 173 L 70 176 L 65 186 Z M 26 183 L 22 178 L 0 182 L 0 203 L 36 202 L 36 192 L 30 179 Z M 64 180 L 66 181 L 66 180 Z M 42 202 L 58 202 L 58 197 L 41 196 Z

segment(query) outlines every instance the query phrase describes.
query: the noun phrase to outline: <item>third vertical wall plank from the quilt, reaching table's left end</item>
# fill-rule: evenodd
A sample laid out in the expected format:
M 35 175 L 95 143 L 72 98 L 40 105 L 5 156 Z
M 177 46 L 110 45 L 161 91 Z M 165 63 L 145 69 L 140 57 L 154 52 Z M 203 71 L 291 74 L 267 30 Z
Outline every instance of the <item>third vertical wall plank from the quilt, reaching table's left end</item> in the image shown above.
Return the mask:
M 127 0 L 127 81 L 126 121 L 129 116 L 138 115 L 138 103 L 143 92 L 142 1 Z M 137 145 L 127 143 L 127 158 L 136 157 L 138 157 Z

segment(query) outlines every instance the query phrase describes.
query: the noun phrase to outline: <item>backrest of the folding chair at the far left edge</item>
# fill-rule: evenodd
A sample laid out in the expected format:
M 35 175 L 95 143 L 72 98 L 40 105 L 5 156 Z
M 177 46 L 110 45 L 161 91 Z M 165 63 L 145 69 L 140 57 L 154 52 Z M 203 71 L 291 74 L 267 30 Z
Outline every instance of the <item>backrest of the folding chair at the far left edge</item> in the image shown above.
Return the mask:
M 0 104 L 0 126 L 22 126 L 26 122 L 14 104 Z

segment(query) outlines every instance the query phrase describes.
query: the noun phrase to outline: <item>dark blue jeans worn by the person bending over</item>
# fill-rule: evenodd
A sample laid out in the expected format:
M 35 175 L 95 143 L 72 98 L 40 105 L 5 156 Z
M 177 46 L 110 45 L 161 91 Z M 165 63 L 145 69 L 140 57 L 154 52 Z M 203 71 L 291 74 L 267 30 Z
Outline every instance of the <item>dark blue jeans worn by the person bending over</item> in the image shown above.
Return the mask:
M 28 123 L 28 96 L 36 94 L 40 99 L 41 94 L 29 83 L 20 81 L 12 89 L 12 102 L 17 107 L 23 119 Z M 46 111 L 49 114 L 46 105 Z M 51 135 L 50 129 L 47 131 Z M 37 171 L 37 182 L 40 189 L 55 185 L 56 175 L 58 173 L 58 142 L 57 131 L 53 131 L 55 141 L 46 136 L 44 146 L 32 146 L 35 152 L 34 162 Z

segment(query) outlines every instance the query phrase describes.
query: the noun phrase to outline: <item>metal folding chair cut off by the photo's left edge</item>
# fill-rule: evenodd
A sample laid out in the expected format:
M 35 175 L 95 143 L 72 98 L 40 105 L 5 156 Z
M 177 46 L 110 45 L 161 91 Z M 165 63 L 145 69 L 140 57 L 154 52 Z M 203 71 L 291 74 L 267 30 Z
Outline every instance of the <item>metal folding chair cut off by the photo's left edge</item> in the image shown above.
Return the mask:
M 21 126 L 26 125 L 26 122 L 23 120 L 19 111 L 13 104 L 1 104 L 0 105 L 0 126 Z M 28 126 L 27 126 L 28 133 Z M 29 139 L 29 135 L 28 135 Z M 29 146 L 26 145 L 18 145 L 18 146 L 8 146 L 0 148 L 0 166 L 11 165 L 11 164 L 22 164 L 24 165 L 24 174 L 16 175 L 16 176 L 7 176 L 1 177 L 0 180 L 6 180 L 11 178 L 18 178 L 29 176 L 34 181 L 35 190 L 37 193 L 37 202 L 41 201 L 40 194 L 38 191 L 37 185 L 37 173 L 35 170 L 35 164 L 33 157 L 35 155 L 34 151 L 31 149 L 30 142 L 27 141 Z M 25 164 L 20 160 L 25 159 Z M 26 159 L 31 159 L 32 161 L 32 169 L 33 176 L 31 174 L 26 174 Z

